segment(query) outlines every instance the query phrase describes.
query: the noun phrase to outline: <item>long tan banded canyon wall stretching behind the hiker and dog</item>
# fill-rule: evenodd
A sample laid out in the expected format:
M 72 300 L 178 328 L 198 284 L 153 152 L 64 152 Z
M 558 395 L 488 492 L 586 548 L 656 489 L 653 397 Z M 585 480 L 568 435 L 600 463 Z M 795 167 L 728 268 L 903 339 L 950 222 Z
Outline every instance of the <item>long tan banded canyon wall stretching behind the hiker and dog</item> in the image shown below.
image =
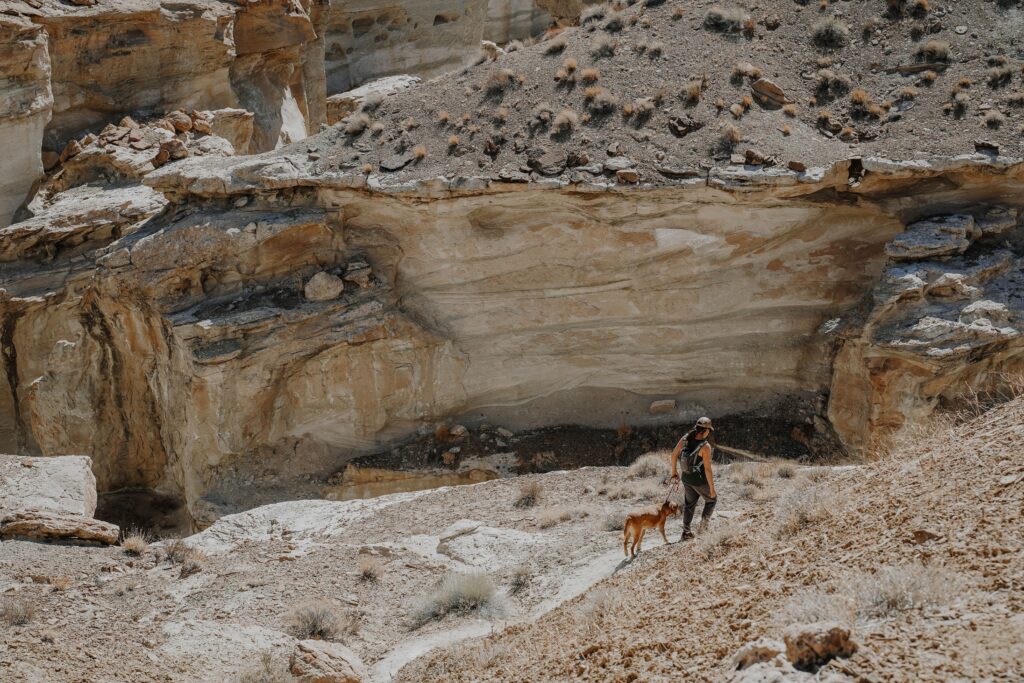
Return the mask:
M 340 462 L 453 418 L 745 413 L 859 449 L 977 374 L 972 353 L 989 374 L 1020 361 L 1024 167 L 1000 164 L 865 163 L 857 189 L 845 162 L 624 189 L 387 187 L 294 151 L 184 160 L 146 176 L 170 205 L 129 234 L 0 268 L 0 446 L 88 454 L 101 489 L 181 492 L 194 514 L 228 470 Z M 970 222 L 953 230 L 970 263 L 916 276 L 974 268 L 975 289 L 894 296 L 894 268 L 942 255 L 912 237 L 934 213 Z M 933 362 L 879 324 L 896 309 L 900 330 L 945 315 L 982 345 Z M 948 381 L 889 381 L 899 364 Z M 656 398 L 678 410 L 649 415 Z

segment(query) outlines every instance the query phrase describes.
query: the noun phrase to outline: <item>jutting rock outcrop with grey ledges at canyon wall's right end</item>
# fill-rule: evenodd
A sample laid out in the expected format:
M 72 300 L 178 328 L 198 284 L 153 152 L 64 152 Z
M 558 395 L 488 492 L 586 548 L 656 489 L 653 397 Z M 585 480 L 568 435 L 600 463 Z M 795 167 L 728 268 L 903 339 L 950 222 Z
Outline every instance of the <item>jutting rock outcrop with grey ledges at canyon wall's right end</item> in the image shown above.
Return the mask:
M 1022 232 L 1004 207 L 932 216 L 886 246 L 836 358 L 828 417 L 850 447 L 1024 372 Z

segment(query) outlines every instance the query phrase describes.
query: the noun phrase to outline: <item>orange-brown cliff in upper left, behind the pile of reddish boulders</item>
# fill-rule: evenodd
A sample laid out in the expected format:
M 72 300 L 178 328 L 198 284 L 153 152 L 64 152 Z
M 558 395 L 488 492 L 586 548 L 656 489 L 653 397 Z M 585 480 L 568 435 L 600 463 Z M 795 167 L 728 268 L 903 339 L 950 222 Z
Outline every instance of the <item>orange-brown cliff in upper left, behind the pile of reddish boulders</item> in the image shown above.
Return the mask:
M 255 115 L 254 152 L 326 122 L 321 0 L 0 5 L 0 142 L 14 151 L 0 226 L 30 194 L 43 157 L 125 115 L 241 108 Z

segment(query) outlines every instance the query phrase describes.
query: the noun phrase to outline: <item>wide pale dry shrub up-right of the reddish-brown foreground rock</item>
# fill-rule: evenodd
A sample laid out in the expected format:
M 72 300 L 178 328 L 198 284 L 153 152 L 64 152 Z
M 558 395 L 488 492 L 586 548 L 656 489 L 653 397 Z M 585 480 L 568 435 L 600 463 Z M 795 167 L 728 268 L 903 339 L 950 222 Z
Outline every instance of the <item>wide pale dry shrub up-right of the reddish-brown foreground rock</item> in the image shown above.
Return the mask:
M 949 604 L 959 583 L 956 573 L 942 567 L 905 564 L 882 567 L 873 574 L 850 574 L 842 590 L 852 598 L 858 616 L 872 618 Z

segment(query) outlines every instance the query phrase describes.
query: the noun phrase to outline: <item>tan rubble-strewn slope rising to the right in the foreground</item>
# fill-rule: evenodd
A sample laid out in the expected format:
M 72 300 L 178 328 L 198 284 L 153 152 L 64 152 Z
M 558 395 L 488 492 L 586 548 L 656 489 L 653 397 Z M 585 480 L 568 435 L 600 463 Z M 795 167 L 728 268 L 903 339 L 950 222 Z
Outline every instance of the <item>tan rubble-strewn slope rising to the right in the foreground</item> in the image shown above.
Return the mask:
M 1022 680 L 1024 400 L 797 485 L 823 494 L 823 518 L 803 529 L 777 530 L 773 507 L 792 499 L 765 504 L 734 522 L 731 545 L 710 546 L 712 559 L 699 540 L 655 548 L 536 624 L 427 657 L 399 680 L 717 680 L 743 643 L 822 615 L 855 623 L 860 650 L 828 667 L 853 680 Z M 870 587 L 913 563 L 911 587 L 934 603 L 869 613 Z

